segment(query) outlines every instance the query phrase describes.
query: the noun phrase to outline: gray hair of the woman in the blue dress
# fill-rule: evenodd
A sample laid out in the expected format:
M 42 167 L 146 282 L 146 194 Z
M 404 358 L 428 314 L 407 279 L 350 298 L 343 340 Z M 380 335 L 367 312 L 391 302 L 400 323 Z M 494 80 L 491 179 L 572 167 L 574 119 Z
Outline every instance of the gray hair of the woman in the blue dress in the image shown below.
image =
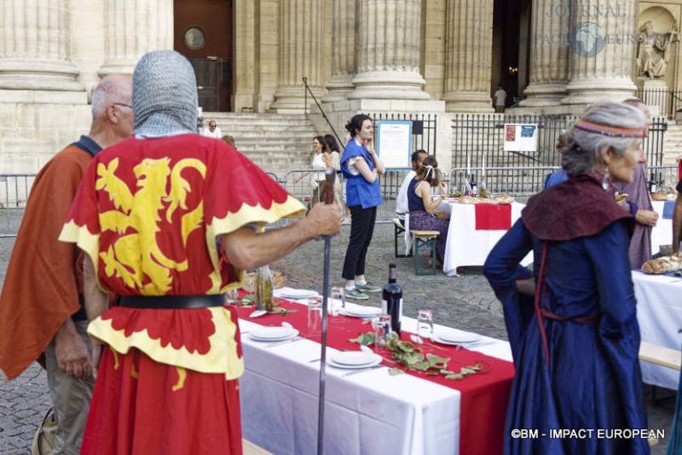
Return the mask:
M 587 106 L 581 119 L 616 128 L 646 128 L 646 117 L 640 109 L 611 101 Z M 638 137 L 607 136 L 574 126 L 568 131 L 566 144 L 561 150 L 561 167 L 567 173 L 597 170 L 604 164 L 601 157 L 604 148 L 611 148 L 616 156 L 621 156 L 633 142 L 641 140 Z

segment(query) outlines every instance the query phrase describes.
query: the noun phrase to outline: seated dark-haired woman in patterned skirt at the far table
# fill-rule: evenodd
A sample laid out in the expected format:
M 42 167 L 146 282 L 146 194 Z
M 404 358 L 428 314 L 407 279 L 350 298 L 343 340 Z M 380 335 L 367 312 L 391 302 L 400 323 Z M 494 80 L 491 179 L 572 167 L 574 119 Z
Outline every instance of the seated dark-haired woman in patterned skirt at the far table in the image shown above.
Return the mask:
M 439 174 L 438 161 L 432 156 L 424 158 L 422 165 L 416 169 L 416 177 L 408 185 L 409 220 L 406 225 L 407 229 L 412 231 L 440 232 L 436 239 L 436 255 L 442 263 L 450 222 L 433 215 L 448 190 L 447 185 L 440 182 Z M 440 187 L 441 194 L 433 199 L 432 188 L 436 186 Z

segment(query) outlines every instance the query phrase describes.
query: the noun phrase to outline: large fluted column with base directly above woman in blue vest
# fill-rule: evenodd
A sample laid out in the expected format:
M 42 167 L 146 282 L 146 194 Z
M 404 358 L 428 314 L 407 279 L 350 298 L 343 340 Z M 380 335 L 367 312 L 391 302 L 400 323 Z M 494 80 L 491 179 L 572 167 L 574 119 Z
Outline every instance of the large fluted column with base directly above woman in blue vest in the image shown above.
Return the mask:
M 350 99 L 429 99 L 419 74 L 421 0 L 359 0 Z

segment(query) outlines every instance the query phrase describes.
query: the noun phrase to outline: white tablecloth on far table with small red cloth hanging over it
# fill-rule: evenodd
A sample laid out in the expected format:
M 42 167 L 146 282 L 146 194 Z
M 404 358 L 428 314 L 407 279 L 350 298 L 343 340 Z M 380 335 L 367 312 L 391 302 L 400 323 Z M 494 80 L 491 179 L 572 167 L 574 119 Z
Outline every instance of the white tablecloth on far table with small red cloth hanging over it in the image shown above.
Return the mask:
M 488 253 L 502 239 L 506 231 L 477 231 L 476 214 L 473 204 L 444 202 L 441 207 L 450 214 L 448 240 L 445 245 L 443 271 L 449 276 L 457 274 L 457 267 L 464 265 L 483 265 Z M 512 203 L 512 225 L 521 216 L 526 207 L 519 202 Z M 533 262 L 533 253 L 529 253 L 521 263 Z

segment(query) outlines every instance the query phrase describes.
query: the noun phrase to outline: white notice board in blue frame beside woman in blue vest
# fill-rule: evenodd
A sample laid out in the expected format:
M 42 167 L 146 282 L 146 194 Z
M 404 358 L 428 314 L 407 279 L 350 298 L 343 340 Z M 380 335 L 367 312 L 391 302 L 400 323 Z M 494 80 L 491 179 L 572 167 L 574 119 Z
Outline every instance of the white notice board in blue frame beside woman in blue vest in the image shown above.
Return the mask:
M 377 153 L 385 169 L 409 169 L 412 154 L 412 122 L 377 121 Z

